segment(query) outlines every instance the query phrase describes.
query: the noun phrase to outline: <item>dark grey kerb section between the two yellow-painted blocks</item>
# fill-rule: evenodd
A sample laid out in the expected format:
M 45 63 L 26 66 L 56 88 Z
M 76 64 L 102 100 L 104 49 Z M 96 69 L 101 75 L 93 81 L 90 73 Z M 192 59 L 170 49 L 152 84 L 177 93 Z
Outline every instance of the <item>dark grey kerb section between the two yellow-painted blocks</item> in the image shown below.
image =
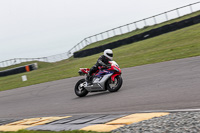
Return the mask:
M 121 118 L 123 116 L 125 115 L 77 115 L 50 122 L 45 125 L 30 127 L 28 128 L 28 130 L 79 130 L 90 125 L 107 123 L 109 121 Z

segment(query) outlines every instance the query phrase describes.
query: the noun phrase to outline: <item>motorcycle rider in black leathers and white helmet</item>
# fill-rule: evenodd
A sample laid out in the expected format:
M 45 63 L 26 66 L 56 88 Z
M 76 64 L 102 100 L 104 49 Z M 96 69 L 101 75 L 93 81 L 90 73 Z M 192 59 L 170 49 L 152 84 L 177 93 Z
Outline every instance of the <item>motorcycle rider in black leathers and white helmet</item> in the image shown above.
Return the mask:
M 111 49 L 104 50 L 104 54 L 99 57 L 97 63 L 90 69 L 86 81 L 90 85 L 92 84 L 92 74 L 98 70 L 99 66 L 107 67 L 109 65 L 109 61 L 113 59 L 113 52 Z

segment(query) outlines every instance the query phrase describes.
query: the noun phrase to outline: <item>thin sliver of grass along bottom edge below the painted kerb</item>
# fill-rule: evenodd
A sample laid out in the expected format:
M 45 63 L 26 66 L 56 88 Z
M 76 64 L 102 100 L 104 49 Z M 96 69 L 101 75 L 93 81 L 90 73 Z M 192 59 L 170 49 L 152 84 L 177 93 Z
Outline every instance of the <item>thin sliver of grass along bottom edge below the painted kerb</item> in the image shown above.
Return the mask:
M 2 132 L 0 133 L 109 133 L 109 132 L 93 132 L 93 131 L 79 131 L 79 130 L 74 130 L 74 131 L 28 131 L 28 130 L 19 130 L 19 131 L 8 131 L 8 132 Z

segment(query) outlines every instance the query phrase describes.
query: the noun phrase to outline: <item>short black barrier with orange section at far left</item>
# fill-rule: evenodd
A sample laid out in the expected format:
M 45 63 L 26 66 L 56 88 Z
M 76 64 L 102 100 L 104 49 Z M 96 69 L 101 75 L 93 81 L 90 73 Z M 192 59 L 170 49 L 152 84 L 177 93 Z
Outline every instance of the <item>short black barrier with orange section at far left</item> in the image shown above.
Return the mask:
M 16 68 L 0 71 L 0 77 L 13 75 L 13 74 L 19 74 L 23 72 L 30 72 L 30 71 L 36 70 L 37 68 L 38 68 L 37 63 L 21 66 L 21 67 L 16 67 Z

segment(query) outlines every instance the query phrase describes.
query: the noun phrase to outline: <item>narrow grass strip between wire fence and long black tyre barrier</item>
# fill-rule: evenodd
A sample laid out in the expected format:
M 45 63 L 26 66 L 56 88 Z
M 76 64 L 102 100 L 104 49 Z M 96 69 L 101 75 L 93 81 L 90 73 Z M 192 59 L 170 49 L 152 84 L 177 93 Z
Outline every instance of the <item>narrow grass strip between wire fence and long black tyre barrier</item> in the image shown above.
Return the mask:
M 111 43 L 111 42 L 115 42 L 115 41 L 118 41 L 118 40 L 121 40 L 121 39 L 124 39 L 124 38 L 128 38 L 128 37 L 131 37 L 131 36 L 146 32 L 146 31 L 150 31 L 150 30 L 158 28 L 158 27 L 162 27 L 162 26 L 167 25 L 167 24 L 171 24 L 171 23 L 174 23 L 174 22 L 180 22 L 182 20 L 197 16 L 197 15 L 200 15 L 200 11 L 197 11 L 197 12 L 194 12 L 192 14 L 185 15 L 185 16 L 182 16 L 180 18 L 173 19 L 173 20 L 170 20 L 170 21 L 167 21 L 167 22 L 163 22 L 163 23 L 156 24 L 156 25 L 153 25 L 153 26 L 147 26 L 145 28 L 137 29 L 137 30 L 134 30 L 134 31 L 129 32 L 129 33 L 117 35 L 117 36 L 114 36 L 114 37 L 111 37 L 111 38 L 108 38 L 108 39 L 105 39 L 105 40 L 102 40 L 102 41 L 98 41 L 98 42 L 95 42 L 95 43 L 92 43 L 92 44 L 86 46 L 85 48 L 81 49 L 80 51 L 85 50 L 85 49 L 94 48 L 94 47 L 97 47 L 97 46 L 101 46 L 101 45 L 104 45 L 104 44 L 108 44 L 108 43 Z

